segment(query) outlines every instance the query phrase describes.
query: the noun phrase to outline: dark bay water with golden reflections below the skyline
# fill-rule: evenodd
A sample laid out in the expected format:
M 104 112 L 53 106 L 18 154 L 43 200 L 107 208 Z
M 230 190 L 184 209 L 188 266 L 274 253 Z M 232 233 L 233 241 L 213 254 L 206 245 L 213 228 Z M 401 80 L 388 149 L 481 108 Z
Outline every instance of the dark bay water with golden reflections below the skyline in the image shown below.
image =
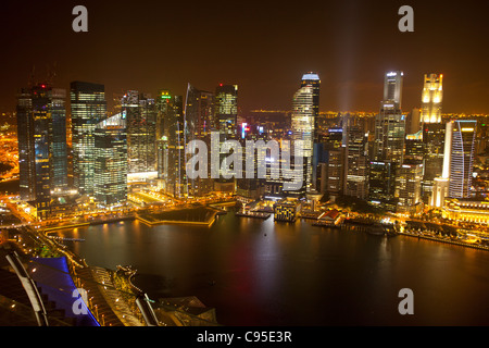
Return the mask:
M 85 238 L 66 245 L 90 265 L 133 265 L 152 299 L 197 296 L 224 325 L 489 324 L 484 250 L 233 212 L 210 228 L 134 221 L 59 235 Z M 413 315 L 398 311 L 402 288 Z

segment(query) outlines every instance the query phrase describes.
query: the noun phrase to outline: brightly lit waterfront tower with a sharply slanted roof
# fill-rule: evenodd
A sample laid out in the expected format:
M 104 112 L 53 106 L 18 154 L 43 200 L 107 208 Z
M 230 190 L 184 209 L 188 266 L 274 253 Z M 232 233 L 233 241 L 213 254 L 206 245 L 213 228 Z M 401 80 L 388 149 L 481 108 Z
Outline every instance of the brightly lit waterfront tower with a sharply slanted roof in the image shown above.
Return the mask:
M 93 196 L 99 207 L 127 200 L 127 139 L 125 111 L 96 125 L 93 130 Z

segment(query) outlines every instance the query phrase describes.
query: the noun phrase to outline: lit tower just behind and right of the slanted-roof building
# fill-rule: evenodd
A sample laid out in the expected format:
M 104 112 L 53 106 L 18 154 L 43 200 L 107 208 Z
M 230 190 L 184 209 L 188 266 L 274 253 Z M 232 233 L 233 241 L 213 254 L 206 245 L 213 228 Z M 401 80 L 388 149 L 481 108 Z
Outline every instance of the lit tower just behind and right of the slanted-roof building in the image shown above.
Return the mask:
M 156 171 L 156 116 L 154 99 L 128 90 L 121 101 L 127 114 L 127 158 L 129 173 L 148 174 Z

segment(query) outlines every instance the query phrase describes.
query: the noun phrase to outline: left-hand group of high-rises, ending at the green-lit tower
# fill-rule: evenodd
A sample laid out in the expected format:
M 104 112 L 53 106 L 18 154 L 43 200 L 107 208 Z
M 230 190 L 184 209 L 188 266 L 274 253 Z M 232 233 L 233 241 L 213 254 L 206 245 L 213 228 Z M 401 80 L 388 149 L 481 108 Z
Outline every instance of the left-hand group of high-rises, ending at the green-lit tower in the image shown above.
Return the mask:
M 111 113 L 100 84 L 73 82 L 68 97 L 49 84 L 23 88 L 16 108 L 21 199 L 43 220 L 63 211 L 67 196 L 122 207 L 130 182 L 156 183 L 176 198 L 208 195 L 214 185 L 234 189 L 226 179 L 188 178 L 185 147 L 193 139 L 211 147 L 213 130 L 222 141 L 236 137 L 237 92 L 236 85 L 208 92 L 189 84 L 184 100 L 168 90 L 155 98 L 128 90 Z

